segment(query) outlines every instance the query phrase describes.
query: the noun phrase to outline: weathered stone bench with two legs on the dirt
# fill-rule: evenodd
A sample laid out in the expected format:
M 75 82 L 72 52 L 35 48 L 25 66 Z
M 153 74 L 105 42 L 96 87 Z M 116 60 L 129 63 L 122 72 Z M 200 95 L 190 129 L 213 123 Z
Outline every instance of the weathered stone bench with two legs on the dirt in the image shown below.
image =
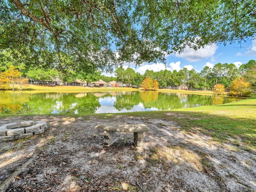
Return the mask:
M 136 147 L 143 146 L 144 132 L 150 131 L 145 124 L 116 124 L 105 123 L 98 126 L 103 129 L 104 144 L 112 145 L 116 141 L 116 132 L 133 133 Z

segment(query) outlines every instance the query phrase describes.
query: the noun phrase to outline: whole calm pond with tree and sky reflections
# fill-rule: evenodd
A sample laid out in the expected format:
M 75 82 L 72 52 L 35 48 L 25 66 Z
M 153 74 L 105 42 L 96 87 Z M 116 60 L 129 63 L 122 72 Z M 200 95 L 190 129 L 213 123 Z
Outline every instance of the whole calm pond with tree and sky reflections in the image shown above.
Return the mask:
M 238 98 L 158 91 L 45 93 L 0 91 L 0 114 L 93 114 L 174 110 Z

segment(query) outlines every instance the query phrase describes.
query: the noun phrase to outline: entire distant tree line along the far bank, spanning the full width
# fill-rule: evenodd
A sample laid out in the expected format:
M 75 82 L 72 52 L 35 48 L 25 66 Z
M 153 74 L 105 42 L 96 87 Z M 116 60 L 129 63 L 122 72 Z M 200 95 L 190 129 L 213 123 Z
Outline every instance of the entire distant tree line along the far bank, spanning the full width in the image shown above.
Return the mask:
M 6 54 L 2 58 L 6 59 Z M 47 62 L 47 60 L 44 62 Z M 66 62 L 69 62 L 69 60 L 66 59 Z M 13 63 L 16 64 L 15 67 L 12 65 Z M 119 67 L 114 73 L 115 77 L 107 77 L 101 75 L 100 70 L 97 68 L 72 68 L 71 65 L 64 71 L 45 68 L 43 65 L 28 68 L 26 65 L 23 65 L 22 62 L 7 62 L 5 60 L 0 63 L 0 84 L 1 89 L 8 89 L 4 84 L 6 85 L 8 82 L 14 84 L 14 79 L 19 83 L 24 81 L 24 78 L 28 78 L 30 82 L 32 82 L 32 80 L 42 82 L 54 81 L 54 78 L 60 78 L 62 82 L 66 83 L 72 83 L 74 80 L 79 79 L 87 83 L 87 85 L 89 82 L 102 79 L 105 82 L 113 80 L 118 81 L 120 86 L 143 86 L 145 90 L 156 89 L 158 87 L 178 88 L 181 84 L 186 84 L 188 88 L 192 90 L 213 90 L 216 84 L 222 84 L 225 89 L 228 89 L 235 79 L 243 77 L 244 81 L 252 85 L 252 90 L 256 90 L 255 60 L 250 60 L 248 63 L 242 64 L 239 68 L 234 64 L 217 63 L 213 68 L 205 66 L 201 72 L 196 72 L 194 69 L 188 70 L 187 68 L 183 68 L 179 71 L 165 69 L 154 72 L 153 70 L 146 70 L 144 74 L 140 74 L 135 72 L 132 68 L 125 70 L 123 67 Z M 151 84 L 149 87 L 144 82 L 145 78 L 148 78 L 147 82 L 150 79 L 152 80 L 152 83 L 149 83 Z M 22 84 L 24 84 L 24 82 Z

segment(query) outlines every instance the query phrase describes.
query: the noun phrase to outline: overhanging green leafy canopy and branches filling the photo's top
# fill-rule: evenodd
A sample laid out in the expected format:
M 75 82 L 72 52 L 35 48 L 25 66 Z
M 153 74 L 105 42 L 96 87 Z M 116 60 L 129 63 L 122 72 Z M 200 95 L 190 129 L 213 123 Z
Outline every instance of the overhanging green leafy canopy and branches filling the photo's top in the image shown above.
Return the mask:
M 197 50 L 256 35 L 254 0 L 23 3 L 0 1 L 0 50 L 11 49 L 26 66 L 44 58 L 45 66 L 60 71 L 90 62 L 106 71 L 123 62 L 164 62 L 166 52 L 186 46 Z M 65 61 L 67 55 L 71 63 Z

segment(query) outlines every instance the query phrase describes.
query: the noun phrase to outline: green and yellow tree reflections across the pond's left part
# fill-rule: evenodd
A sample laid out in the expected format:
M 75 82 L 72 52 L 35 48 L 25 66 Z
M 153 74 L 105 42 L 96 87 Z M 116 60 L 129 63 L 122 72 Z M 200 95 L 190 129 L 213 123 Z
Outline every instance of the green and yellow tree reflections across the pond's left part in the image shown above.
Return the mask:
M 82 93 L 77 98 L 74 93 L 36 93 L 15 95 L 4 99 L 8 104 L 0 105 L 1 114 L 85 114 L 95 113 L 100 103 L 91 93 Z M 9 94 L 10 96 L 10 94 Z M 17 101 L 17 102 L 16 102 Z

